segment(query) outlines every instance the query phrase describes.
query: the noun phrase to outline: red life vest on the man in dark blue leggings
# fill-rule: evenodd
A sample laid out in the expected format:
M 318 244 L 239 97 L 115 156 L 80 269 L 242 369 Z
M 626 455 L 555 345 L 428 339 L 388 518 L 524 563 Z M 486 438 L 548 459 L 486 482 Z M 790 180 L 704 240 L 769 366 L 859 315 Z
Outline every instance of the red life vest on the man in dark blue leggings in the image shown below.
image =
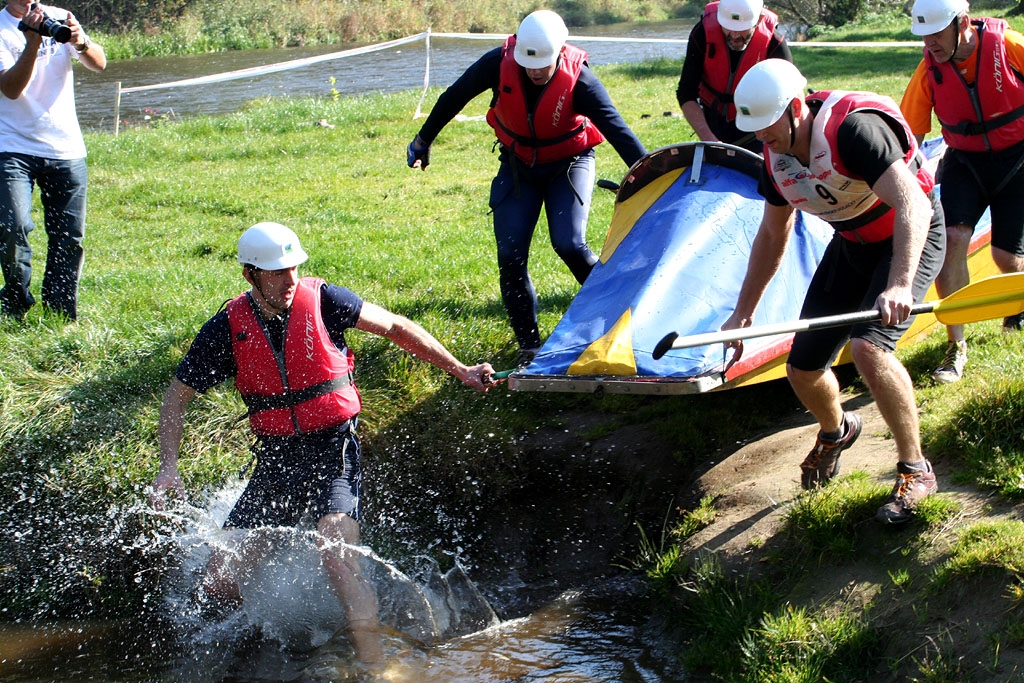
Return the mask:
M 604 141 L 604 135 L 572 109 L 572 90 L 587 53 L 564 45 L 554 76 L 544 86 L 534 111 L 526 110 L 522 67 L 513 56 L 515 36 L 502 48 L 498 93 L 487 110 L 487 123 L 498 140 L 526 164 L 547 164 L 582 154 Z

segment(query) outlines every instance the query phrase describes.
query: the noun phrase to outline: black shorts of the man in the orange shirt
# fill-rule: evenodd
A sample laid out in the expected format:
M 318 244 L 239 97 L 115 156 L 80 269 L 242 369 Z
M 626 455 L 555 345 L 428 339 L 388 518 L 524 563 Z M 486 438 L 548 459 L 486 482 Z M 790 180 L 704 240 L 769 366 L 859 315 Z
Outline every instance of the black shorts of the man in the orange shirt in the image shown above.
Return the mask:
M 1024 143 L 1002 152 L 946 150 L 939 167 L 946 225 L 975 227 L 992 211 L 992 246 L 1024 256 Z

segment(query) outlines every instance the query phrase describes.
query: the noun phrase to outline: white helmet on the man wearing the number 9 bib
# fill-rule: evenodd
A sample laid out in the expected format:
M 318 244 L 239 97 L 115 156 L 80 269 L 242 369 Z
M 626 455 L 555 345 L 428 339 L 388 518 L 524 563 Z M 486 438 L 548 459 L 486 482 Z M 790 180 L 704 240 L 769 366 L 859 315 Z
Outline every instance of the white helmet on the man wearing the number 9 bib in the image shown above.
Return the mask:
M 754 132 L 778 121 L 790 102 L 804 96 L 807 79 L 785 59 L 765 59 L 751 67 L 732 96 L 736 128 Z

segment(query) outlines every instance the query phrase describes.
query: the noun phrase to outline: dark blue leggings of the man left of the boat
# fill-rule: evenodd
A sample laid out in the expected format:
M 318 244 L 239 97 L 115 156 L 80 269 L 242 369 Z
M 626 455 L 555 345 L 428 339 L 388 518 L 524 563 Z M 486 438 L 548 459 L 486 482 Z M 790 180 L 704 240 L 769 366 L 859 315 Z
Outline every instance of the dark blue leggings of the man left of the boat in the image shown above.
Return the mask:
M 537 323 L 537 291 L 527 262 L 541 206 L 555 253 L 581 285 L 597 256 L 587 246 L 587 217 L 594 193 L 594 151 L 532 168 L 503 151 L 501 168 L 490 183 L 495 214 L 498 273 L 502 301 L 520 348 L 541 345 Z

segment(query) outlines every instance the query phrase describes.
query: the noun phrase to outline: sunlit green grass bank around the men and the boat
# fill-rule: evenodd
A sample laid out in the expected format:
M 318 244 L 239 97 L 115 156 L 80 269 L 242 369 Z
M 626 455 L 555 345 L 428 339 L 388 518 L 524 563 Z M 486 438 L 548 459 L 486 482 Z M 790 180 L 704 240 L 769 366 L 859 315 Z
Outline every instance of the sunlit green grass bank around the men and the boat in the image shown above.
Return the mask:
M 920 58 L 916 49 L 795 52 L 814 88 L 871 89 L 897 98 Z M 692 137 L 681 118 L 662 116 L 677 109 L 679 68 L 678 61 L 662 60 L 599 70 L 649 148 Z M 254 222 L 278 220 L 293 227 L 311 254 L 305 273 L 344 284 L 417 319 L 467 362 L 508 367 L 515 349 L 499 299 L 486 209 L 496 167 L 488 154 L 493 136 L 483 123 L 454 123 L 435 143 L 427 172 L 413 172 L 404 165 L 404 146 L 419 125 L 411 120 L 417 99 L 418 93 L 402 93 L 271 100 L 231 116 L 157 122 L 117 138 L 89 135 L 81 321 L 68 325 L 37 308 L 24 324 L 0 322 L 0 528 L 5 531 L 0 591 L 12 596 L 4 617 L 125 615 L 150 599 L 159 579 L 157 561 L 147 554 L 150 540 L 173 528 L 133 506 L 156 472 L 160 397 L 199 326 L 243 289 L 234 245 Z M 465 114 L 482 114 L 485 105 L 481 97 Z M 330 126 L 314 125 L 319 120 Z M 609 148 L 599 151 L 599 177 L 618 179 L 624 171 Z M 611 208 L 610 195 L 595 196 L 590 229 L 595 248 Z M 33 245 L 40 264 L 41 228 Z M 544 239 L 536 241 L 530 262 L 542 329 L 549 332 L 577 286 Z M 38 280 L 35 287 L 38 292 Z M 1015 482 L 1024 480 L 1020 343 L 999 338 L 994 324 L 978 326 L 977 334 L 971 379 L 953 388 L 935 387 L 928 378 L 941 355 L 941 340 L 906 355 L 920 392 L 924 436 L 934 455 L 956 463 L 970 485 L 1015 501 L 1021 495 Z M 383 340 L 353 334 L 350 342 L 366 399 L 367 478 L 379 494 L 372 515 L 387 520 L 378 525 L 381 544 L 430 533 L 446 539 L 437 550 L 454 552 L 449 546 L 485 523 L 490 506 L 514 505 L 507 492 L 517 476 L 524 436 L 543 428 L 570 429 L 565 417 L 570 411 L 599 414 L 609 429 L 646 425 L 672 439 L 683 468 L 764 431 L 794 410 L 784 385 L 698 397 L 505 389 L 479 396 Z M 181 463 L 189 490 L 211 490 L 246 463 L 247 428 L 237 421 L 242 413 L 228 388 L 194 401 Z M 834 494 L 827 506 L 816 497 L 806 504 L 823 519 L 863 518 L 863 490 L 835 487 Z M 868 492 L 868 500 L 877 495 Z M 813 514 L 807 517 L 794 521 L 797 547 L 822 543 L 808 530 L 822 523 Z M 1019 584 L 1015 556 L 969 553 L 1013 548 L 1016 526 L 1006 541 L 1007 536 L 955 521 L 939 504 L 918 523 L 922 538 L 963 533 L 957 557 L 964 562 L 950 564 L 948 577 L 970 578 L 976 569 L 994 567 L 986 571 L 995 572 L 997 590 Z M 858 528 L 834 525 L 825 537 L 843 539 Z M 893 545 L 899 553 L 898 543 L 888 548 Z M 735 582 L 716 572 L 713 563 L 686 561 L 674 547 L 654 548 L 650 558 L 657 567 L 653 575 L 678 600 L 678 613 L 721 617 L 690 632 L 703 638 L 691 641 L 690 650 L 708 655 L 694 666 L 718 675 L 743 667 L 761 672 L 750 680 L 816 680 L 796 674 L 768 678 L 765 672 L 771 670 L 751 664 L 814 671 L 807 664 L 811 652 L 815 661 L 829 663 L 824 671 L 831 680 L 846 680 L 835 673 L 842 673 L 840 665 L 881 651 L 884 633 L 862 613 L 826 621 L 816 612 L 790 610 L 784 585 Z M 864 542 L 852 547 L 863 549 Z M 779 572 L 812 578 L 828 548 L 814 556 L 782 554 Z M 670 561 L 673 552 L 676 562 Z M 883 570 L 891 561 L 881 554 L 872 559 Z M 949 585 L 919 586 L 900 577 L 893 583 L 906 589 L 911 607 L 926 590 L 938 591 L 928 594 L 938 596 L 930 601 L 941 600 Z M 694 585 L 708 612 L 684 599 L 692 597 L 686 589 Z M 909 594 L 911 587 L 922 593 Z M 737 608 L 722 609 L 726 604 Z M 1001 642 L 1016 642 L 1011 636 L 1008 632 Z M 750 639 L 751 646 L 724 645 L 737 638 Z M 809 649 L 782 647 L 796 639 L 810 643 Z M 815 644 L 822 639 L 829 646 L 843 644 L 839 651 L 847 658 L 835 658 L 835 647 Z M 773 643 L 780 643 L 778 650 L 771 649 Z M 733 650 L 735 659 L 722 655 Z M 760 658 L 742 659 L 748 655 Z

